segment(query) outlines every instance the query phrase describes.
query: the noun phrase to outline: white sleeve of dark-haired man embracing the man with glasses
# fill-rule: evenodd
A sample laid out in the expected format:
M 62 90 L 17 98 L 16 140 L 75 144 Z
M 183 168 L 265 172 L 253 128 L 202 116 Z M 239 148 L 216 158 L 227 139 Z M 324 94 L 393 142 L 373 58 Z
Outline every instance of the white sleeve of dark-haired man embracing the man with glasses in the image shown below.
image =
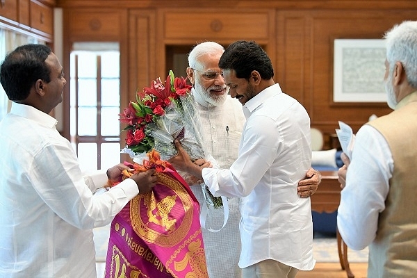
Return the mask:
M 257 116 L 247 121 L 238 158 L 229 170 L 204 168 L 204 182 L 214 196 L 246 197 L 277 156 L 281 142 L 275 121 Z

